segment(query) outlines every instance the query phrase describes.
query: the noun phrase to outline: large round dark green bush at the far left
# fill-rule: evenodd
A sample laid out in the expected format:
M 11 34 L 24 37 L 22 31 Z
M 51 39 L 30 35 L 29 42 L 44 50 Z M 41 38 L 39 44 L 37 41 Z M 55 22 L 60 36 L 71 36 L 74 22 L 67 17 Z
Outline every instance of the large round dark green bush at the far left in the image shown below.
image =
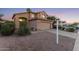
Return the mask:
M 15 25 L 12 21 L 6 21 L 1 25 L 1 35 L 8 36 L 14 33 Z

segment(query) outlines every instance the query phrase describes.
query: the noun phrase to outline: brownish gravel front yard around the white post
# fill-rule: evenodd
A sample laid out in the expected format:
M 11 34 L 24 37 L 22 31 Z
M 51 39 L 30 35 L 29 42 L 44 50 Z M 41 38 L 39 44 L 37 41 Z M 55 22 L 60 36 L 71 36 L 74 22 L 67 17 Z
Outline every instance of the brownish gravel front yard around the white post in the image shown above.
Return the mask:
M 2 51 L 72 51 L 75 39 L 59 36 L 49 32 L 33 33 L 29 36 L 0 36 L 0 50 Z

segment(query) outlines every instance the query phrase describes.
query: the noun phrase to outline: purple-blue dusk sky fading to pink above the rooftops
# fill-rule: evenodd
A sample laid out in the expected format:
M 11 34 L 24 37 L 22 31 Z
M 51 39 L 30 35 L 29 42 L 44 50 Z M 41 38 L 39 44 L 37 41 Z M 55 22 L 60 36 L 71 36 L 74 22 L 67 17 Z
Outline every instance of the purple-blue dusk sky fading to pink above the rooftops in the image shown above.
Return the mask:
M 14 13 L 25 12 L 27 8 L 0 8 L 3 18 L 12 20 Z M 32 11 L 45 11 L 48 15 L 56 16 L 67 23 L 79 22 L 79 8 L 31 8 Z

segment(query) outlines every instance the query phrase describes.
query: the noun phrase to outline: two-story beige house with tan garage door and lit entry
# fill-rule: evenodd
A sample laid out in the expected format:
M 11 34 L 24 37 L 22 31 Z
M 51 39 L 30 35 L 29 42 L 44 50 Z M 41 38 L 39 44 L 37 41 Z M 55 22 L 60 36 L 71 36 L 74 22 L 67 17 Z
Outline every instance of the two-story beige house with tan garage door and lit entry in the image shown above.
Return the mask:
M 47 19 L 48 15 L 44 11 L 15 13 L 12 19 L 15 22 L 16 28 L 19 28 L 20 21 L 24 21 L 22 17 L 26 19 L 28 26 L 32 30 L 46 30 L 52 28 L 52 22 Z

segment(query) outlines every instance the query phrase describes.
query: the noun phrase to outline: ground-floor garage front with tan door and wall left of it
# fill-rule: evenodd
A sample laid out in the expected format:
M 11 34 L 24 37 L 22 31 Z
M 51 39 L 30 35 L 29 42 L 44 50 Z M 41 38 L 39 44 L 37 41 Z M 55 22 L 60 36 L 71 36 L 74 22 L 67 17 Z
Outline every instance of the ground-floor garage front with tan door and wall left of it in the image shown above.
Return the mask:
M 35 28 L 37 30 L 46 30 L 50 29 L 51 24 L 48 21 L 41 21 L 41 20 L 32 20 L 30 21 L 30 27 Z

